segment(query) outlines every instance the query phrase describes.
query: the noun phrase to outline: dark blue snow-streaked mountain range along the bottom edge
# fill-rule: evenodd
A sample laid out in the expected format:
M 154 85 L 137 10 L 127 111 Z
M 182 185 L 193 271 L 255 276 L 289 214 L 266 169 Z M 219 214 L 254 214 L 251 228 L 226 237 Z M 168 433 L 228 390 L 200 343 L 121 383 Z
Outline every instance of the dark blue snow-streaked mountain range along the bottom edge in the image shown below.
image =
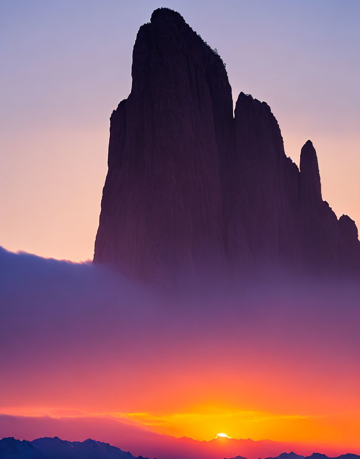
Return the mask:
M 14 437 L 6 437 L 0 440 L 0 459 L 135 459 L 135 456 L 116 446 L 91 439 L 84 442 L 68 442 L 55 436 L 54 438 L 44 437 L 29 442 L 16 440 Z M 138 459 L 147 458 L 138 456 Z M 219 459 L 221 459 L 220 456 Z M 246 458 L 238 455 L 232 459 Z M 291 451 L 266 459 L 329 459 L 329 456 L 320 453 L 302 456 Z M 360 455 L 348 453 L 333 459 L 360 459 Z

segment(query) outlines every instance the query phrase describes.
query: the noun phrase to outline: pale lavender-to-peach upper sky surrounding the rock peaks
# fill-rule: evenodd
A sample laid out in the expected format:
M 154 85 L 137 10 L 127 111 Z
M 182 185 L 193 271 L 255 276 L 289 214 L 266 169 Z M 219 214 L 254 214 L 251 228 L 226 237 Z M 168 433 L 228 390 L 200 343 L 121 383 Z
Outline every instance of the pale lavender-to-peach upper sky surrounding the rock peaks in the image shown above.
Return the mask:
M 311 139 L 323 198 L 360 223 L 357 1 L 0 3 L 0 245 L 93 258 L 109 116 L 153 9 L 179 11 L 227 64 L 233 99 L 265 100 L 299 164 Z

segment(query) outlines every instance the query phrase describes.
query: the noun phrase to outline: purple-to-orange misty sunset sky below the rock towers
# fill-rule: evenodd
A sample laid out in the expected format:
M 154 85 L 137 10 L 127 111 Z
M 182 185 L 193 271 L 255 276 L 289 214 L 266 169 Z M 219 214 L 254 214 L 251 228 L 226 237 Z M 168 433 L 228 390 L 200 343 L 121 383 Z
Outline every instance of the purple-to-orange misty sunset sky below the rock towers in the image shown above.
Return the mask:
M 92 437 L 159 459 L 360 453 L 358 283 L 160 295 L 4 249 L 0 270 L 0 436 Z M 219 432 L 279 443 L 201 443 Z

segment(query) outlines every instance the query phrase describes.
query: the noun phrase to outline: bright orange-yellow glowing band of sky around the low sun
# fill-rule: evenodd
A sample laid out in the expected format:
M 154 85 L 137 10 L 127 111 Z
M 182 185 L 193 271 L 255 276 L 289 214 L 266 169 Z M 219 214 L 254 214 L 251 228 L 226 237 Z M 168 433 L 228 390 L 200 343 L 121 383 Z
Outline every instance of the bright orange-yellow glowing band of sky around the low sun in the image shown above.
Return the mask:
M 186 436 L 198 441 L 210 441 L 212 432 L 221 425 L 229 434 L 218 433 L 216 438 L 251 438 L 259 441 L 270 438 L 277 442 L 327 444 L 328 447 L 350 448 L 360 451 L 358 428 L 360 410 L 344 413 L 282 414 L 261 411 L 217 410 L 202 407 L 192 412 L 174 413 L 111 413 L 85 412 L 76 409 L 46 407 L 2 407 L 0 412 L 27 418 L 48 416 L 52 419 L 109 419 L 146 430 Z

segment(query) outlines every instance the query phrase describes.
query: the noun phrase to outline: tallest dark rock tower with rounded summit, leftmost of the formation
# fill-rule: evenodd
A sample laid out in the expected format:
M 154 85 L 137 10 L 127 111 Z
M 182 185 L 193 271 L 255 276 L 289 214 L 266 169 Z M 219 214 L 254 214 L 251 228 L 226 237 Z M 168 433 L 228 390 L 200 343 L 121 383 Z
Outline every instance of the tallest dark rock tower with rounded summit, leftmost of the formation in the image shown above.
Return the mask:
M 178 13 L 155 10 L 133 48 L 131 93 L 110 118 L 94 261 L 143 279 L 224 266 L 219 161 L 231 124 L 220 57 Z

